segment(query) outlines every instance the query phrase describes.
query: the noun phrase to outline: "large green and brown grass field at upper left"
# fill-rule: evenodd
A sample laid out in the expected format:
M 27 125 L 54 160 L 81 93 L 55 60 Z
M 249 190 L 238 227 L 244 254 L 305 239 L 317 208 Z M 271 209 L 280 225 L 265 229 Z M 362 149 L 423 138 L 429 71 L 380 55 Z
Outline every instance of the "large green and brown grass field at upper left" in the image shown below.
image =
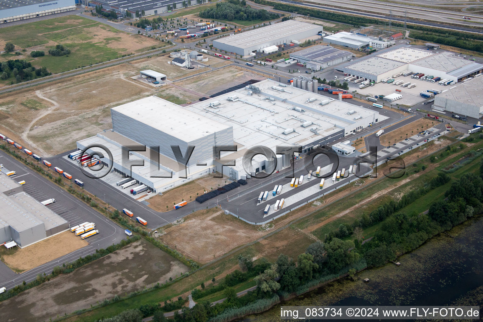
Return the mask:
M 20 51 L 22 53 L 20 56 L 2 54 L 0 61 L 26 59 L 33 66 L 45 66 L 53 73 L 168 45 L 166 42 L 129 34 L 78 15 L 0 28 L 0 47 L 3 48 L 6 42 L 12 42 L 15 50 L 25 48 L 27 51 Z M 59 43 L 71 49 L 71 54 L 49 55 L 49 49 L 55 48 Z M 43 50 L 45 56 L 32 58 L 30 52 L 34 50 Z M 7 83 L 10 83 L 10 80 L 2 81 L 0 84 Z

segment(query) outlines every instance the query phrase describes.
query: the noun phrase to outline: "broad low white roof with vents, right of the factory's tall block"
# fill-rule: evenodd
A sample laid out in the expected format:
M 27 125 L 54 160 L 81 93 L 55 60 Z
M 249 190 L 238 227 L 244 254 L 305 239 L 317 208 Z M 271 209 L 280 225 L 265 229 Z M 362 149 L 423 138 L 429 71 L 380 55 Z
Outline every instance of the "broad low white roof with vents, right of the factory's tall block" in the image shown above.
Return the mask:
M 233 140 L 239 146 L 264 145 L 273 151 L 281 144 L 311 143 L 316 138 L 351 126 L 355 123 L 355 117 L 365 118 L 377 113 L 297 87 L 283 87 L 270 79 L 258 82 L 254 86 L 260 89 L 259 93 L 250 95 L 246 88 L 241 88 L 185 108 L 196 113 L 208 111 L 206 115 L 211 119 L 232 126 Z M 229 97 L 236 99 L 233 101 L 228 99 Z M 310 98 L 315 100 L 310 102 Z M 209 107 L 215 100 L 220 105 Z M 330 102 L 323 106 L 319 104 L 326 100 Z M 302 112 L 294 108 L 300 108 Z M 384 119 L 384 116 L 379 116 L 379 121 Z M 302 127 L 305 122 L 312 123 Z M 289 128 L 295 131 L 284 134 L 284 130 Z

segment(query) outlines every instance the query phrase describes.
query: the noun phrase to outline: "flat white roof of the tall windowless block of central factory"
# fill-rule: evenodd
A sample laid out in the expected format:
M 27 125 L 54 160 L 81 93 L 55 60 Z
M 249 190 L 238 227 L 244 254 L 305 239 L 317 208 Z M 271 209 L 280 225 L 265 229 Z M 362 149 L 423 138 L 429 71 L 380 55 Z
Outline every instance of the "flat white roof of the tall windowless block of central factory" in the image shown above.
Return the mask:
M 202 114 L 190 112 L 156 96 L 141 98 L 114 107 L 112 110 L 185 142 L 229 128 L 223 123 Z

